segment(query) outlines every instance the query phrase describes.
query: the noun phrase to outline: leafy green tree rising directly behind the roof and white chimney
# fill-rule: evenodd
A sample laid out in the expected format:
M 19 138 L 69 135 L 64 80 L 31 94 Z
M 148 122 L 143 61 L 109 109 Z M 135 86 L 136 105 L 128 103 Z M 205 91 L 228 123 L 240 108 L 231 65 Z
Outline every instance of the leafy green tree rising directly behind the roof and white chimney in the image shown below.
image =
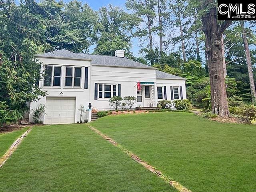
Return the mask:
M 94 54 L 114 56 L 116 50 L 130 54 L 132 28 L 137 18 L 122 8 L 102 7 L 98 12 L 99 20 L 94 27 L 96 48 Z

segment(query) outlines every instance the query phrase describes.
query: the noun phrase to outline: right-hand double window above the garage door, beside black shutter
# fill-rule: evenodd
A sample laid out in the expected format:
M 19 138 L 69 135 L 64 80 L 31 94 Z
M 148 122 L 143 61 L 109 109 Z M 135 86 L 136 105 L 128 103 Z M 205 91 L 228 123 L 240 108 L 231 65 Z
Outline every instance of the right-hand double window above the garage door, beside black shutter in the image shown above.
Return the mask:
M 80 67 L 66 67 L 65 87 L 81 87 Z

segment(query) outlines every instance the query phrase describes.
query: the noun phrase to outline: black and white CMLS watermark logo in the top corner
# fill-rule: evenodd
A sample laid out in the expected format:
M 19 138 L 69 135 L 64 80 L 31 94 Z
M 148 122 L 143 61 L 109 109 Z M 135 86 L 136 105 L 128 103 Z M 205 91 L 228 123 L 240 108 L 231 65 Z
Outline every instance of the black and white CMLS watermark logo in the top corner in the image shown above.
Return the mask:
M 220 0 L 219 0 L 220 1 Z M 218 2 L 218 20 L 256 20 L 256 2 Z

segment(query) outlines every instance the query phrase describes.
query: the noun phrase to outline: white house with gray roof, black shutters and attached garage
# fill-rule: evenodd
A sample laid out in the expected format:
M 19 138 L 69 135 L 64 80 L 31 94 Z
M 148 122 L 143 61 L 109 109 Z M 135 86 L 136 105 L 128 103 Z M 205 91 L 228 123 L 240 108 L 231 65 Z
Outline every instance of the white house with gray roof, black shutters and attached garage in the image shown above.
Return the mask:
M 109 110 L 112 96 L 135 96 L 136 106 L 142 107 L 155 107 L 159 100 L 186 99 L 186 79 L 124 58 L 122 50 L 116 50 L 116 56 L 57 50 L 36 58 L 42 62 L 44 74 L 39 87 L 47 91 L 47 96 L 32 102 L 30 110 L 44 104 L 44 124 L 78 122 L 81 104 Z M 32 115 L 30 111 L 30 122 Z

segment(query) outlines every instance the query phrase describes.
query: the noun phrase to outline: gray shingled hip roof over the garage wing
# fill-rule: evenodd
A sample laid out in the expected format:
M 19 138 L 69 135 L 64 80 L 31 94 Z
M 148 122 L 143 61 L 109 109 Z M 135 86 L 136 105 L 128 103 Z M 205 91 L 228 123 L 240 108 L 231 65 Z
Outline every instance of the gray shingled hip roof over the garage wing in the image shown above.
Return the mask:
M 86 58 L 85 56 L 82 56 L 80 54 L 73 53 L 68 50 L 56 50 L 53 52 L 47 52 L 43 54 L 38 54 L 36 57 L 52 57 L 52 58 L 69 58 L 69 59 L 80 59 L 80 60 L 90 60 Z

